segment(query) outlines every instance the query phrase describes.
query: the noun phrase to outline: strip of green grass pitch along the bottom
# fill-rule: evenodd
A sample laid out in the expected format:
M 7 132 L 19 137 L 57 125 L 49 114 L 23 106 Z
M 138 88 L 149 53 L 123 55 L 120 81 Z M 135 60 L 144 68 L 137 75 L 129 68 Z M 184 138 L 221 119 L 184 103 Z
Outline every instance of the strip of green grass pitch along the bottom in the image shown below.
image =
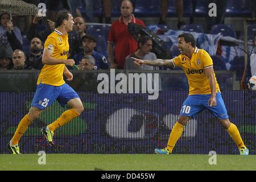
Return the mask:
M 143 154 L 46 154 L 46 164 L 38 164 L 39 155 L 0 155 L 0 170 L 256 170 L 256 155 L 217 155 L 217 164 L 209 164 L 209 155 Z

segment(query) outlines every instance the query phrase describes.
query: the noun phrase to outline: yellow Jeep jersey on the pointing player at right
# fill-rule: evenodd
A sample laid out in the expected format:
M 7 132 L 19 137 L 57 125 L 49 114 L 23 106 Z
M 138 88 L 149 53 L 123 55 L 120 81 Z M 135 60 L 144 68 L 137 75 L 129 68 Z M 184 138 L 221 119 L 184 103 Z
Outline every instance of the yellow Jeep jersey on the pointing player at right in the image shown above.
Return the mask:
M 195 48 L 191 60 L 184 55 L 179 55 L 172 59 L 175 67 L 181 67 L 188 78 L 189 95 L 210 94 L 210 84 L 204 69 L 213 66 L 212 58 L 209 53 L 203 49 Z M 218 86 L 214 73 L 216 93 L 220 88 Z

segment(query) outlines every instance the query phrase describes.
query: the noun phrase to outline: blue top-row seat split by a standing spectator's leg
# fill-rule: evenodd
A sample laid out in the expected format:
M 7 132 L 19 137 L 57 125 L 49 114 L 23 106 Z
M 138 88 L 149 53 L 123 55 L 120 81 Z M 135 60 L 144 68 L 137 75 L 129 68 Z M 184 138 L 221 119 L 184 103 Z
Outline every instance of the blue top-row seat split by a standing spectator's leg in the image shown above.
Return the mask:
M 192 15 L 192 2 L 191 0 L 183 1 L 183 16 L 188 17 Z M 168 16 L 177 16 L 175 0 L 169 0 Z

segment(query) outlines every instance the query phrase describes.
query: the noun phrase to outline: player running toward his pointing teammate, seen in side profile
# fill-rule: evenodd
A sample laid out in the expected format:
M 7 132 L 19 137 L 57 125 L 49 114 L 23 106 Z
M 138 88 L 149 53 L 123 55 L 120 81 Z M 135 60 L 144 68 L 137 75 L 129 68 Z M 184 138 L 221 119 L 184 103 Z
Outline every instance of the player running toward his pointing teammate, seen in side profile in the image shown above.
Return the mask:
M 20 154 L 18 142 L 30 123 L 38 118 L 42 110 L 55 100 L 61 106 L 70 105 L 71 109 L 65 111 L 56 121 L 41 130 L 51 146 L 53 146 L 53 131 L 78 117 L 84 111 L 84 106 L 78 94 L 63 79 L 64 73 L 68 81 L 73 80 L 72 73 L 65 67 L 65 65 L 73 66 L 75 64 L 73 59 L 67 59 L 69 52 L 68 32 L 72 31 L 73 24 L 73 16 L 67 10 L 60 10 L 57 13 L 57 28 L 44 43 L 42 57 L 44 67 L 38 77 L 38 86 L 30 111 L 19 122 L 13 138 L 8 143 L 8 147 L 13 154 Z

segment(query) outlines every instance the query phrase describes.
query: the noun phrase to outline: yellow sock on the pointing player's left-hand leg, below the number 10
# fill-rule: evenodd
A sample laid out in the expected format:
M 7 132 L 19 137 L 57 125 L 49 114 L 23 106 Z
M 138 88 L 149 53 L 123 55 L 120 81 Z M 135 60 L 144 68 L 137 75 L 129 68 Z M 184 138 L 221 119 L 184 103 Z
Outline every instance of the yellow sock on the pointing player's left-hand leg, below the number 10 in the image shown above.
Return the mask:
M 168 151 L 172 152 L 177 140 L 181 137 L 183 133 L 183 129 L 184 129 L 183 125 L 181 125 L 178 122 L 175 123 L 168 140 L 168 144 L 167 144 Z

